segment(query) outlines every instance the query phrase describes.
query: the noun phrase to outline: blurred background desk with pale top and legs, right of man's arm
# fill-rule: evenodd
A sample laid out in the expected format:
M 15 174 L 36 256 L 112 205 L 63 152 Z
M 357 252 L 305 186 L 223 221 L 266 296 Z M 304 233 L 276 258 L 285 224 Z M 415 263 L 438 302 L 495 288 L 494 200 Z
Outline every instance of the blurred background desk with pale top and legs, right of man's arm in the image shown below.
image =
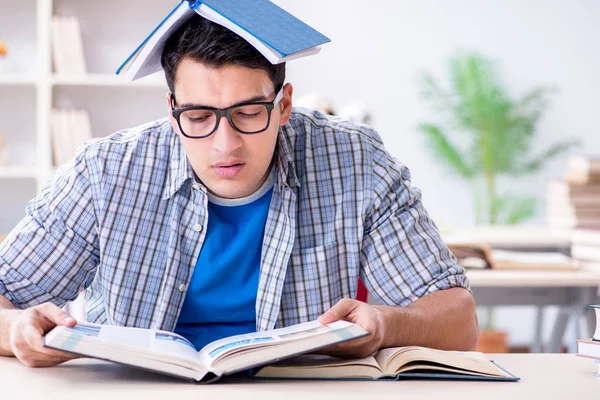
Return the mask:
M 600 273 L 585 268 L 574 271 L 468 270 L 477 305 L 559 306 L 547 350 L 559 353 L 569 320 L 575 321 L 575 335 L 588 337 L 595 326 L 589 305 L 598 302 Z M 587 322 L 587 323 L 584 323 Z M 534 352 L 541 351 L 543 314 L 535 322 Z M 567 343 L 570 352 L 576 345 Z

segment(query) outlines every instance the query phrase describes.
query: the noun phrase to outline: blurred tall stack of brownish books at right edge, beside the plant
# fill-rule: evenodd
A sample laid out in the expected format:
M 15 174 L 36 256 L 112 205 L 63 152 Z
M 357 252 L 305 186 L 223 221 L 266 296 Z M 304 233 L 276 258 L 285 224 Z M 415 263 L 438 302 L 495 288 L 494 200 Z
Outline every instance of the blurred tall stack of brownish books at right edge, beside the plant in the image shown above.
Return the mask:
M 600 157 L 569 158 L 565 179 L 548 186 L 546 221 L 553 230 L 600 229 Z

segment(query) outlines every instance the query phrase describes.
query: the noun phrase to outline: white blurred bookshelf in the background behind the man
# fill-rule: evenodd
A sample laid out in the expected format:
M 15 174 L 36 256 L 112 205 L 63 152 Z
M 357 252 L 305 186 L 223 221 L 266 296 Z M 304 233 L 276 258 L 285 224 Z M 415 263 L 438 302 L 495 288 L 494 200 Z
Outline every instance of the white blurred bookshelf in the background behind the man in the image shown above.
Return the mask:
M 25 215 L 52 176 L 51 111 L 83 108 L 93 137 L 162 118 L 167 114 L 160 74 L 127 82 L 114 71 L 175 0 L 0 0 L 0 132 L 11 165 L 0 166 L 0 235 Z M 76 16 L 81 26 L 85 74 L 56 74 L 52 60 L 53 16 Z

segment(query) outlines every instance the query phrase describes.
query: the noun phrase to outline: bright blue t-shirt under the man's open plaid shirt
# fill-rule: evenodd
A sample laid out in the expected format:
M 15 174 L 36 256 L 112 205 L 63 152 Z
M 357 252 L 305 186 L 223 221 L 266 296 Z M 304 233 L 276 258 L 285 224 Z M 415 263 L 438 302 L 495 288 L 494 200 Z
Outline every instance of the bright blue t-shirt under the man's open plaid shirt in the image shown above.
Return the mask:
M 273 177 L 244 199 L 209 195 L 206 237 L 175 327 L 198 350 L 217 339 L 256 331 L 256 294 Z

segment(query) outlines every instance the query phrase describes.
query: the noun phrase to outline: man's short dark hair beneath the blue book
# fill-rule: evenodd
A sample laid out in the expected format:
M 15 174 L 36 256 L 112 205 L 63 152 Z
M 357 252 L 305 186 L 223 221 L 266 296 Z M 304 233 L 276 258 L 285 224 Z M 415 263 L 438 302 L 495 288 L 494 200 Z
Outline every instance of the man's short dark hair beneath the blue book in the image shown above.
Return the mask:
M 163 49 L 160 63 L 171 93 L 177 66 L 183 58 L 190 58 L 213 68 L 234 64 L 262 69 L 269 74 L 275 90 L 281 88 L 285 80 L 285 63 L 271 64 L 246 40 L 199 15 L 194 15 L 173 33 Z

